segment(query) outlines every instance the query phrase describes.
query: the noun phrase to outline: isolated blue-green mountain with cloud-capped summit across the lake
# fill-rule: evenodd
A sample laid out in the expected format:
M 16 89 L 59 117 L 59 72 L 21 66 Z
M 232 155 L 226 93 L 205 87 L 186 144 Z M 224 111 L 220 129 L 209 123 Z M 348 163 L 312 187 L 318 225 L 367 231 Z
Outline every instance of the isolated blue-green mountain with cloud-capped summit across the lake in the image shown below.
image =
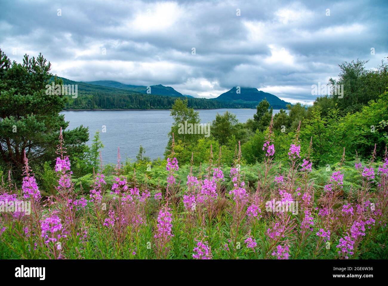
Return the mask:
M 213 100 L 232 101 L 234 103 L 251 103 L 256 106 L 264 98 L 267 99 L 269 104 L 275 109 L 286 108 L 286 105 L 290 104 L 273 94 L 258 91 L 253 87 L 241 87 L 240 93 L 237 93 L 237 88 L 233 87 L 230 91 L 224 92 L 217 98 L 213 98 Z

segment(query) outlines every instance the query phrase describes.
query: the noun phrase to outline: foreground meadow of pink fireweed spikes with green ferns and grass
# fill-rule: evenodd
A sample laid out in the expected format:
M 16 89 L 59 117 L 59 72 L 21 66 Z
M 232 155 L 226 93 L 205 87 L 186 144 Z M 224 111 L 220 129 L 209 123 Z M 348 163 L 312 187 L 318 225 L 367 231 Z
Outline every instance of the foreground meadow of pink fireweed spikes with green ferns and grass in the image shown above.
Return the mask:
M 274 162 L 273 120 L 264 162 L 244 166 L 240 144 L 232 166 L 221 149 L 199 167 L 179 166 L 175 142 L 163 170 L 129 175 L 120 162 L 90 183 L 74 186 L 71 158 L 59 133 L 56 193 L 43 197 L 24 154 L 18 187 L 9 173 L 0 185 L 0 256 L 29 259 L 358 259 L 388 258 L 388 155 L 356 155 L 328 167 L 317 183 L 314 150 L 301 146 L 298 127 L 288 162 Z M 205 166 L 205 167 L 203 167 Z M 253 170 L 257 181 L 248 180 Z M 324 171 L 322 171 L 324 172 Z M 162 175 L 161 175 L 162 174 Z M 331 175 L 331 176 L 330 176 Z M 350 178 L 352 177 L 352 178 Z M 184 180 L 182 180 L 182 178 Z M 187 178 L 187 180 L 185 180 Z M 152 183 L 152 179 L 154 179 Z M 163 181 L 166 183 L 163 183 Z M 158 183 L 155 183 L 155 180 Z M 346 185 L 346 182 L 352 184 Z M 85 187 L 87 186 L 87 187 Z M 12 209 L 31 204 L 30 213 Z M 5 204 L 8 211 L 5 211 Z

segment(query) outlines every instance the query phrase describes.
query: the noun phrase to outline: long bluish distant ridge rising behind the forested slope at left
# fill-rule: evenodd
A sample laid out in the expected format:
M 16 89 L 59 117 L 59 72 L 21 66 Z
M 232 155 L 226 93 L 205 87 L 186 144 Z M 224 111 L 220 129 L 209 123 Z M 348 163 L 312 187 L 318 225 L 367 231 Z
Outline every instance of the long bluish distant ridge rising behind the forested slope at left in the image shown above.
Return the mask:
M 121 82 L 116 82 L 114 80 L 97 80 L 94 82 L 86 82 L 86 83 L 87 84 L 94 84 L 94 85 L 102 85 L 105 87 L 114 87 L 114 88 L 119 88 L 119 89 L 125 89 L 128 91 L 135 91 L 135 92 L 140 92 L 143 94 L 154 94 L 154 95 L 175 96 L 175 97 L 192 97 L 189 95 L 183 95 L 182 93 L 177 92 L 172 87 L 164 86 L 161 84 L 151 85 L 150 89 L 147 89 L 146 86 L 122 84 Z M 148 90 L 150 90 L 151 93 L 150 92 L 147 93 Z

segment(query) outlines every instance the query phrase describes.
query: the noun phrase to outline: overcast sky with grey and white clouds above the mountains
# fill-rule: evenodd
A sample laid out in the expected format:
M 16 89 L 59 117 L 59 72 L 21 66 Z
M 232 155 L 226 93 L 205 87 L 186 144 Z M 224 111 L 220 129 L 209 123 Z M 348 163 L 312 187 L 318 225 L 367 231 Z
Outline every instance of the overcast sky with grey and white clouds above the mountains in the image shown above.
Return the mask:
M 0 46 L 17 62 L 42 52 L 52 73 L 76 81 L 206 98 L 246 86 L 310 104 L 311 85 L 341 62 L 373 68 L 388 56 L 386 0 L 247 2 L 2 1 Z

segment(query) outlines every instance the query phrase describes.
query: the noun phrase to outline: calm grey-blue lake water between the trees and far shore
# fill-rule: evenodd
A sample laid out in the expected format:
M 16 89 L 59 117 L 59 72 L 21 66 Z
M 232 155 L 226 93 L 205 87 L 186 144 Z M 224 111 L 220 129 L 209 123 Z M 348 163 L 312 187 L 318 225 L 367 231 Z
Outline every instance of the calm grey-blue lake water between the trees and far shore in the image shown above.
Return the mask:
M 216 109 L 199 110 L 202 123 L 211 122 L 217 113 L 225 111 L 236 114 L 239 122 L 253 118 L 255 109 Z M 274 114 L 279 110 L 274 110 Z M 171 130 L 173 119 L 169 110 L 120 110 L 120 111 L 64 111 L 65 120 L 69 121 L 68 129 L 80 125 L 89 127 L 89 138 L 95 131 L 100 132 L 104 144 L 101 151 L 102 161 L 117 162 L 117 148 L 120 147 L 121 160 L 135 159 L 140 144 L 145 148 L 145 156 L 155 159 L 163 157 L 168 142 L 168 132 Z M 91 140 L 88 144 L 91 143 Z

